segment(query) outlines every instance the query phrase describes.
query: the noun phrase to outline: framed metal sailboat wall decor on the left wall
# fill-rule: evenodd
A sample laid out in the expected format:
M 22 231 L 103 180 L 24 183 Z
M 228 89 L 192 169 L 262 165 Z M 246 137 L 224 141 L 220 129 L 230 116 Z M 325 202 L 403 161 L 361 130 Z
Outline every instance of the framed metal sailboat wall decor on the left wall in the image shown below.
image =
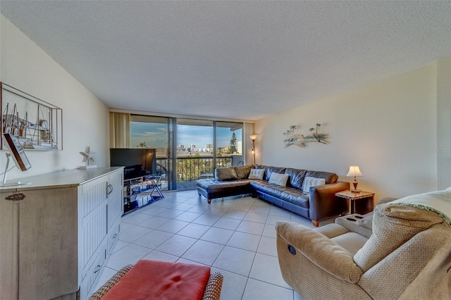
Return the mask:
M 4 82 L 0 86 L 0 149 L 6 149 L 3 134 L 11 133 L 26 150 L 62 150 L 63 110 Z

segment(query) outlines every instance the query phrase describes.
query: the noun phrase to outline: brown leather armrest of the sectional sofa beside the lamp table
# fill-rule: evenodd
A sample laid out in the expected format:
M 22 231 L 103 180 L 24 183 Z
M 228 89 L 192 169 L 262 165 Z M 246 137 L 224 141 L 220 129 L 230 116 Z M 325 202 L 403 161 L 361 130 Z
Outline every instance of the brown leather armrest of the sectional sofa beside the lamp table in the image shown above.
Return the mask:
M 347 210 L 347 199 L 337 198 L 335 193 L 347 189 L 350 189 L 350 183 L 341 181 L 310 187 L 309 218 L 321 221 L 344 213 Z

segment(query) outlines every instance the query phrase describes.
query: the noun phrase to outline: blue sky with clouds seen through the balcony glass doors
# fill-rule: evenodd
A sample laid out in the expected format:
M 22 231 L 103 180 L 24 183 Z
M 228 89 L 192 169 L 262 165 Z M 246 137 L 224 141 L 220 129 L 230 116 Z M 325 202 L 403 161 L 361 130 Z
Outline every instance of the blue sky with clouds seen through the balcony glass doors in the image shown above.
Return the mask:
M 130 122 L 131 145 L 137 146 L 140 142 L 146 142 L 150 147 L 167 146 L 166 124 Z M 218 146 L 228 146 L 233 132 L 229 128 L 218 127 L 216 130 Z M 242 139 L 242 130 L 235 130 L 237 141 Z M 189 147 L 190 144 L 196 148 L 205 148 L 206 144 L 213 144 L 213 129 L 207 126 L 178 125 L 177 145 L 183 144 Z

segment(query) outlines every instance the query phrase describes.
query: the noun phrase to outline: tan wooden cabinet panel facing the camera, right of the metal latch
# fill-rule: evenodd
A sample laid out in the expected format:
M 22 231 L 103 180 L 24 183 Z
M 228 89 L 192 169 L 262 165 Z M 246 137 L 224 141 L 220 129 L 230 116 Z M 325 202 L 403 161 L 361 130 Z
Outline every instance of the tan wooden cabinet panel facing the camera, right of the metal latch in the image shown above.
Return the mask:
M 19 299 L 78 290 L 77 189 L 24 191 L 19 201 Z

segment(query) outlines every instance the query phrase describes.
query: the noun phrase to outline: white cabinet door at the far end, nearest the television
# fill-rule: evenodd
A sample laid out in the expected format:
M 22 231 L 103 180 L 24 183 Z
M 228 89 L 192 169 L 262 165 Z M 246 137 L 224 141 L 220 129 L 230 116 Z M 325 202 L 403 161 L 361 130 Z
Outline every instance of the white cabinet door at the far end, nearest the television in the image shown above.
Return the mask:
M 123 214 L 123 169 L 109 174 L 108 228 Z

